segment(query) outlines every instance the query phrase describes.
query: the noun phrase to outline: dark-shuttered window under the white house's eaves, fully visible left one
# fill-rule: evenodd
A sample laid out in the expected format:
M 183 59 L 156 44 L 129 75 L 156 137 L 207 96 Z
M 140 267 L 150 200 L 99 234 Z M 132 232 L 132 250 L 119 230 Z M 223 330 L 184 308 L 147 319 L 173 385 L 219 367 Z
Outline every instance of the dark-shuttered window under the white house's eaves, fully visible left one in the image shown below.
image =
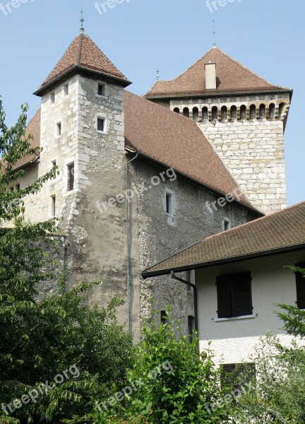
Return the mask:
M 235 273 L 217 277 L 218 318 L 252 314 L 251 273 Z

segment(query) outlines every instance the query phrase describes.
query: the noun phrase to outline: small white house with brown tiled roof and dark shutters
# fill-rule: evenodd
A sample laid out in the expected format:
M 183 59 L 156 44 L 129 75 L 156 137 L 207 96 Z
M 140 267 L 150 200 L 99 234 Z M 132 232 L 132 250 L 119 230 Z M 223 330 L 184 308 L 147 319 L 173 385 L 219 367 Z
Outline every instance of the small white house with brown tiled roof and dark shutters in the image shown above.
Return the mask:
M 287 268 L 305 267 L 304 224 L 305 201 L 207 237 L 143 277 L 195 270 L 200 349 L 213 341 L 216 363 L 249 362 L 266 331 L 290 341 L 276 304 L 305 309 L 305 281 Z

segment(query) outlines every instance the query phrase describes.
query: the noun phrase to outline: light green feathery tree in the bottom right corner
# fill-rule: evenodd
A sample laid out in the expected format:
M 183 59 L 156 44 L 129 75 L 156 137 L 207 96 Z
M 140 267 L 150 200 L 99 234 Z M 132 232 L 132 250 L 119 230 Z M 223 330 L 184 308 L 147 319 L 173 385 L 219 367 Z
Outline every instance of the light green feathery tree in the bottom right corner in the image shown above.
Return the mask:
M 289 266 L 305 276 L 305 269 Z M 304 280 L 305 284 L 305 280 Z M 239 401 L 241 423 L 303 424 L 305 422 L 305 311 L 292 305 L 278 305 L 277 312 L 287 334 L 294 336 L 290 346 L 282 346 L 273 334 L 261 338 L 253 361 L 256 363 L 256 389 Z

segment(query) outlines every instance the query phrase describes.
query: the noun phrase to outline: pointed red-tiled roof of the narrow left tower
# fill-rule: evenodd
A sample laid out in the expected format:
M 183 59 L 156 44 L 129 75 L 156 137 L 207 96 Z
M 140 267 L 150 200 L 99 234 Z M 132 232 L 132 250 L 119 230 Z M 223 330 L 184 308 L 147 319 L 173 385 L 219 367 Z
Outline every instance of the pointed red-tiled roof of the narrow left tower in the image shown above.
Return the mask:
M 119 71 L 119 69 L 112 64 L 111 61 L 101 52 L 94 42 L 86 34 L 79 34 L 74 38 L 71 45 L 68 47 L 64 55 L 59 59 L 56 66 L 49 73 L 49 76 L 44 80 L 40 88 L 35 92 L 36 95 L 41 95 L 47 87 L 52 85 L 62 76 L 76 70 L 90 71 L 98 73 L 101 76 L 114 78 L 121 81 L 124 86 L 128 86 L 130 82 Z

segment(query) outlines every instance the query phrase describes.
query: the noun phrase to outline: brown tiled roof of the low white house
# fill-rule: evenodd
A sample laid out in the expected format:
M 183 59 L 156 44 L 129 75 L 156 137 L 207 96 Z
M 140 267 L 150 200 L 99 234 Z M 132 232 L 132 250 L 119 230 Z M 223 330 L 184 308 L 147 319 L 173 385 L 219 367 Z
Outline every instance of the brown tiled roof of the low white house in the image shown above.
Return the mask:
M 207 237 L 143 271 L 144 278 L 305 249 L 305 201 Z

